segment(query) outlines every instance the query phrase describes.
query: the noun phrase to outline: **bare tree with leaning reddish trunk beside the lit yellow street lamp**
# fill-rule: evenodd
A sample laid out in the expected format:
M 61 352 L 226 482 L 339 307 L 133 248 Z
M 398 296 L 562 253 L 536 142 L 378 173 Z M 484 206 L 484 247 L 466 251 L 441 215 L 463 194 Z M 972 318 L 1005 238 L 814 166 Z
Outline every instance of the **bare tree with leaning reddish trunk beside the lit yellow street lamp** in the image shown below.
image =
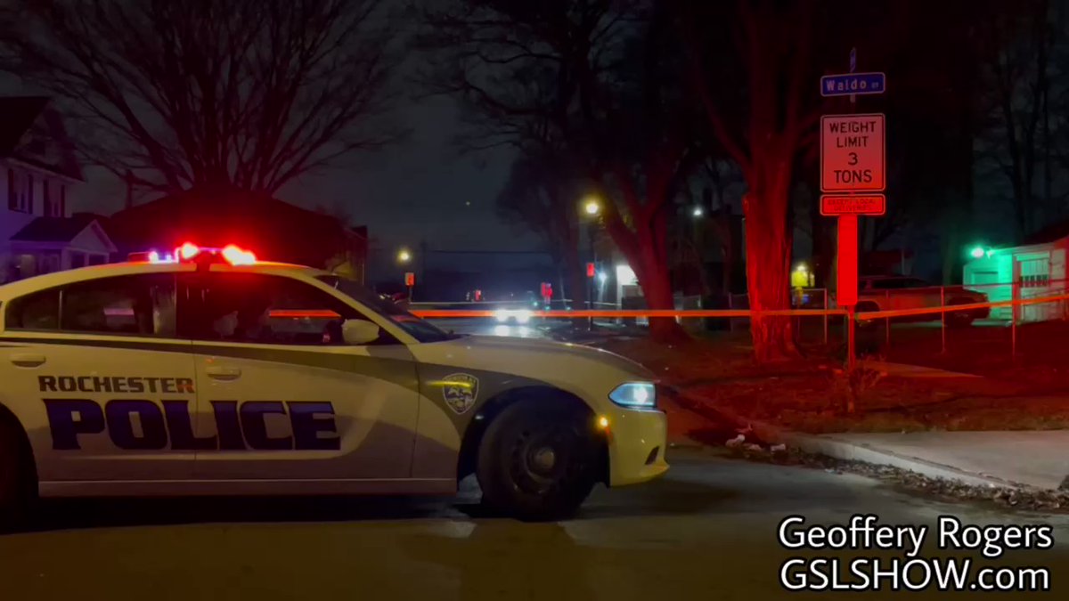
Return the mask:
M 466 148 L 566 149 L 604 200 L 599 219 L 649 307 L 672 308 L 668 213 L 700 157 L 673 95 L 661 4 L 458 0 L 424 7 L 423 20 L 421 41 L 439 57 L 424 82 L 463 101 Z M 650 327 L 661 340 L 682 335 L 671 319 Z

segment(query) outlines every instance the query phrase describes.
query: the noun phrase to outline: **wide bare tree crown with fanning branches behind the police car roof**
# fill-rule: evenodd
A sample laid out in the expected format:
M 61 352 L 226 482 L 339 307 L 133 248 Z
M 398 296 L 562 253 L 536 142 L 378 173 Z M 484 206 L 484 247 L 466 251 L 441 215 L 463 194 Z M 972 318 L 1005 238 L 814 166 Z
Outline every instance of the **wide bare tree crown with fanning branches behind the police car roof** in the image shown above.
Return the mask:
M 13 0 L 0 68 L 65 101 L 90 164 L 274 194 L 394 137 L 382 0 Z

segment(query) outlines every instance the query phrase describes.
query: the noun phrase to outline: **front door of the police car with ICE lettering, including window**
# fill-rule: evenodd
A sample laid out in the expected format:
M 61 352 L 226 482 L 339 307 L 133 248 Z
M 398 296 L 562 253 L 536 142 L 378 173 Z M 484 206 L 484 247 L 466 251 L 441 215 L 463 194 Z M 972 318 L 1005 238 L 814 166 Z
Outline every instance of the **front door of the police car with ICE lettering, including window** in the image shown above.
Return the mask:
M 346 345 L 362 315 L 308 281 L 213 271 L 180 284 L 193 340 L 197 454 L 206 479 L 393 479 L 412 471 L 416 366 L 384 337 Z

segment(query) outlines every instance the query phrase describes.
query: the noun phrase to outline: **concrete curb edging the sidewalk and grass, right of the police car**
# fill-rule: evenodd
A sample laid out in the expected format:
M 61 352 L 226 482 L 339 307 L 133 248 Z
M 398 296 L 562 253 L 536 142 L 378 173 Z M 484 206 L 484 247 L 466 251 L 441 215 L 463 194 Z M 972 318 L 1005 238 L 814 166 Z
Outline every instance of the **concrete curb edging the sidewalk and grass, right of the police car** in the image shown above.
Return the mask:
M 679 397 L 686 399 L 690 403 L 698 406 L 702 404 L 700 402 L 700 398 L 690 395 L 684 390 L 677 390 L 677 394 Z M 713 413 L 721 418 L 728 419 L 732 421 L 739 430 L 749 430 L 758 440 L 764 443 L 785 444 L 789 447 L 794 447 L 808 453 L 822 454 L 845 461 L 862 461 L 874 465 L 889 465 L 900 469 L 908 469 L 929 478 L 954 480 L 972 487 L 1016 489 L 1022 491 L 1043 490 L 1003 480 L 1002 478 L 995 478 L 993 476 L 964 472 L 950 465 L 934 463 L 925 459 L 873 447 L 871 445 L 858 445 L 856 443 L 836 438 L 834 434 L 805 434 L 802 432 L 786 430 L 771 423 L 746 419 L 745 417 L 725 412 L 724 410 L 713 410 L 708 406 L 703 409 L 704 411 L 701 413 L 706 414 L 707 417 L 709 417 L 708 413 Z M 696 410 L 692 409 L 692 411 Z

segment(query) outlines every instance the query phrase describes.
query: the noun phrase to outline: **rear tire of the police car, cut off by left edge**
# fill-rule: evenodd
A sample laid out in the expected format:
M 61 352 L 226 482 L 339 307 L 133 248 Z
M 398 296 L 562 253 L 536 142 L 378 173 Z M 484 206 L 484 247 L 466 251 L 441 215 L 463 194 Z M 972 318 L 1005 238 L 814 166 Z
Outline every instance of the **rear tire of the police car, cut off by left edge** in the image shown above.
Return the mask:
M 21 430 L 0 417 L 0 531 L 25 527 L 36 502 L 36 476 Z

